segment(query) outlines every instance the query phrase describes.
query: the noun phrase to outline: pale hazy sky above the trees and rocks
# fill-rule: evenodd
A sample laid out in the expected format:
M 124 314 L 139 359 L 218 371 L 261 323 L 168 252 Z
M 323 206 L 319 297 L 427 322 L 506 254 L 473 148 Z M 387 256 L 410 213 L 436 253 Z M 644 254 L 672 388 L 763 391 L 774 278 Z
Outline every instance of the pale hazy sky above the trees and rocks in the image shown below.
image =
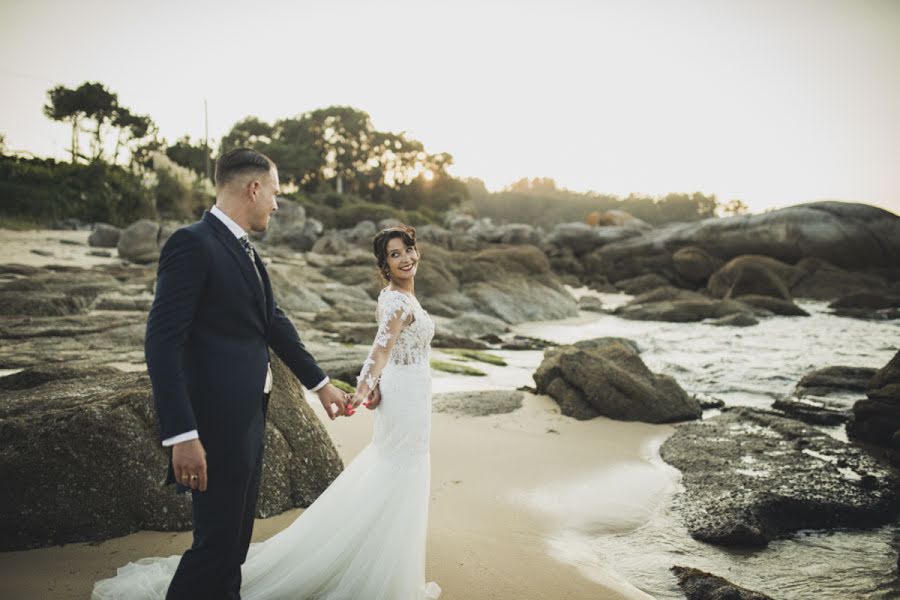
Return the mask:
M 100 81 L 171 142 L 332 104 L 498 189 L 817 199 L 900 213 L 900 1 L 0 0 L 0 134 Z

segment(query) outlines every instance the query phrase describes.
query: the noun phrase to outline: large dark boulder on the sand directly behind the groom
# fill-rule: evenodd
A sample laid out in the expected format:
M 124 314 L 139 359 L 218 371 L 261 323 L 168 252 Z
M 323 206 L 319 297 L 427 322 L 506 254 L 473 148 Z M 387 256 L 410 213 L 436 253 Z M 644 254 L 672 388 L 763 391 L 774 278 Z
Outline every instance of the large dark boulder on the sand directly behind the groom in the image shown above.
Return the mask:
M 274 363 L 258 517 L 308 506 L 342 470 L 287 368 Z M 109 368 L 38 367 L 0 379 L 2 550 L 190 527 L 164 486 L 150 381 Z

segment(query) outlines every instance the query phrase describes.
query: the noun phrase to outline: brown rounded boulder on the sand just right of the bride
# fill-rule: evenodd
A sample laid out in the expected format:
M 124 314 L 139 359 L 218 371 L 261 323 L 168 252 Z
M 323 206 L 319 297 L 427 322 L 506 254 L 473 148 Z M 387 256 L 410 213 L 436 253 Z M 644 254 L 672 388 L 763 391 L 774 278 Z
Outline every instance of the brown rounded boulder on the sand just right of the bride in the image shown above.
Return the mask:
M 670 423 L 702 412 L 672 377 L 652 373 L 632 345 L 616 339 L 546 351 L 534 381 L 577 419 Z

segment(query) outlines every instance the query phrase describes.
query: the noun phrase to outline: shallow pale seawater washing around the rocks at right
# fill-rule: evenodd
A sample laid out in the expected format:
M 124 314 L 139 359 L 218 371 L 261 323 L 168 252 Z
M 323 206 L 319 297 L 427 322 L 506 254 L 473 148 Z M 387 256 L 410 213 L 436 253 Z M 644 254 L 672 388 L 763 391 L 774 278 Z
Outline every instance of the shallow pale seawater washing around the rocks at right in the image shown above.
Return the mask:
M 599 296 L 607 306 L 629 299 Z M 759 408 L 769 408 L 789 394 L 812 370 L 834 365 L 880 368 L 897 352 L 900 322 L 838 317 L 824 302 L 798 304 L 809 317 L 769 317 L 744 328 L 582 313 L 514 330 L 560 344 L 628 338 L 637 342 L 650 369 L 672 375 L 688 393 Z M 494 382 L 533 385 L 524 381 L 524 374 L 533 372 L 539 359 L 540 353 L 522 356 L 520 362 L 528 364 L 514 365 L 502 376 L 505 381 Z M 843 435 L 843 428 L 827 429 L 835 437 Z M 588 576 L 611 571 L 655 598 L 684 597 L 669 571 L 672 565 L 709 571 L 779 599 L 900 598 L 897 524 L 865 531 L 800 531 L 762 550 L 733 550 L 692 539 L 671 508 L 682 487 L 680 473 L 659 457 L 664 439 L 660 435 L 648 440 L 640 463 L 527 492 L 527 501 L 537 510 L 569 517 L 549 542 L 553 556 Z

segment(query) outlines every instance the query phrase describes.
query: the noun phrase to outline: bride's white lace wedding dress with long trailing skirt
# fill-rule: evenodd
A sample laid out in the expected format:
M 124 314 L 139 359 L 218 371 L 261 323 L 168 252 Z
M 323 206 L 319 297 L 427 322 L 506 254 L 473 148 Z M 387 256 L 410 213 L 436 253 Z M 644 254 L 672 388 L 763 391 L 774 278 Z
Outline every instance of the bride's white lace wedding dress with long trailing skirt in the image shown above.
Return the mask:
M 252 544 L 243 600 L 433 600 L 425 583 L 431 486 L 434 322 L 418 300 L 381 291 L 378 333 L 358 388 L 379 385 L 372 441 L 288 527 Z M 162 600 L 180 556 L 128 563 L 92 600 Z

